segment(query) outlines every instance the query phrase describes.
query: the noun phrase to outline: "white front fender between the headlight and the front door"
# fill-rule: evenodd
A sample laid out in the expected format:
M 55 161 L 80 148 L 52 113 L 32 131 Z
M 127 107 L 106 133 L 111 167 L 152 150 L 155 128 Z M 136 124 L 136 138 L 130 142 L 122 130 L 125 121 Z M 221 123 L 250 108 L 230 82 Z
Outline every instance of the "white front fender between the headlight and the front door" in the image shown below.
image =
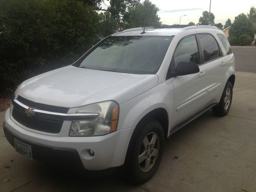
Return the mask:
M 171 117 L 174 113 L 174 92 L 171 79 L 121 104 L 118 129 L 136 126 L 146 114 L 158 108 L 167 111 L 170 129 Z

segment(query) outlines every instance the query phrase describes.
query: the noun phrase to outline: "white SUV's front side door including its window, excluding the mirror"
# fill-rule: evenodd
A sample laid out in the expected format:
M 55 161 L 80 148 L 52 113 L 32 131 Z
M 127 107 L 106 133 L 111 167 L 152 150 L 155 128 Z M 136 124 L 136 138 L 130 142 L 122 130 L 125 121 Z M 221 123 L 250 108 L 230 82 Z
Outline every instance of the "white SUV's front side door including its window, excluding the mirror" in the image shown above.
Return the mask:
M 171 67 L 176 68 L 180 61 L 196 62 L 200 72 L 196 74 L 173 77 L 174 116 L 173 125 L 177 125 L 189 116 L 197 113 L 206 104 L 205 66 L 202 65 L 195 35 L 184 37 L 174 52 Z

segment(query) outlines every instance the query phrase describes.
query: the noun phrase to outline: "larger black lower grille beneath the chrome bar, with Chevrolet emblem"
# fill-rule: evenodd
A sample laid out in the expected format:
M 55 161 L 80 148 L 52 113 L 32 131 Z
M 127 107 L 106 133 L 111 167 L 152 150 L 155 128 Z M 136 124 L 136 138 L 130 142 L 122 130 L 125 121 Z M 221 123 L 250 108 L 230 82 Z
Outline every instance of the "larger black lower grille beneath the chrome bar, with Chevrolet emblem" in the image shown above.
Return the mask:
M 61 126 L 63 124 L 63 120 L 56 119 L 56 116 L 54 115 L 42 114 L 42 113 L 35 113 L 34 116 L 28 116 L 26 114 L 25 108 L 18 105 L 16 102 L 12 102 L 12 103 L 13 103 L 12 116 L 19 123 L 29 127 L 30 129 L 34 129 L 38 131 L 43 131 L 48 133 L 60 132 Z M 29 105 L 29 107 L 32 108 L 33 106 Z

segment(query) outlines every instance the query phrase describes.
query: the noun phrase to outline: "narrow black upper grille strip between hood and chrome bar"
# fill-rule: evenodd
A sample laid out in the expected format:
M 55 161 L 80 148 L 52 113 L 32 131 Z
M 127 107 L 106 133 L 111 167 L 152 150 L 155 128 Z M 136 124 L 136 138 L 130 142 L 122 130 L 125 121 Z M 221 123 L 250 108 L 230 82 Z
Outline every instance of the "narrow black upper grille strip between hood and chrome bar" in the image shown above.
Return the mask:
M 35 108 L 38 110 L 50 111 L 50 112 L 56 112 L 56 113 L 68 113 L 68 111 L 69 111 L 69 108 L 64 108 L 62 106 L 53 106 L 53 105 L 48 105 L 48 104 L 37 103 L 37 102 L 30 101 L 30 100 L 25 99 L 20 96 L 18 96 L 17 100 L 33 109 Z

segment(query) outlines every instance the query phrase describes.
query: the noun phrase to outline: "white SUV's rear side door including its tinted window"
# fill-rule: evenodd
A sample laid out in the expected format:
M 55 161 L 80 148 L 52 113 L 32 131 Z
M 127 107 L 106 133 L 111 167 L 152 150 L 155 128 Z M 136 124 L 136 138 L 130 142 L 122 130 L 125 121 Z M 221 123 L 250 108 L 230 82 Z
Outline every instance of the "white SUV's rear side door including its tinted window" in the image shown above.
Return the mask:
M 225 59 L 216 38 L 211 34 L 198 34 L 198 41 L 206 68 L 207 104 L 219 102 L 222 93 L 224 75 L 226 72 Z

